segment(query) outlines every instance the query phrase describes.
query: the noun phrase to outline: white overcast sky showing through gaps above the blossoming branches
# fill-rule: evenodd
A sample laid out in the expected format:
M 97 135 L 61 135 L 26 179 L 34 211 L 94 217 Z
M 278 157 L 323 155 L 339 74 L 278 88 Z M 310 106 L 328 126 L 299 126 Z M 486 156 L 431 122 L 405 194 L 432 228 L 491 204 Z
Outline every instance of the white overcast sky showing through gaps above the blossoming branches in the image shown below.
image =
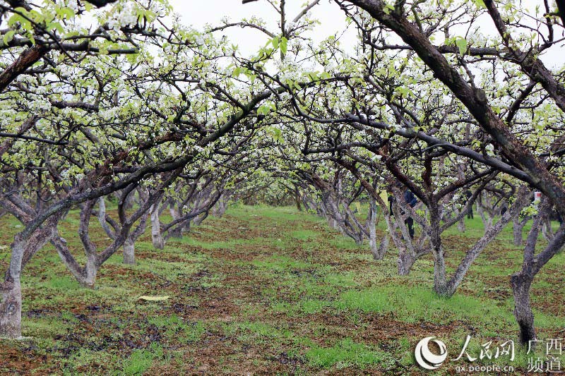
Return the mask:
M 169 0 L 169 2 L 172 4 L 174 11 L 182 15 L 182 20 L 186 25 L 193 25 L 198 29 L 206 24 L 221 25 L 221 20 L 225 17 L 230 18 L 233 22 L 237 22 L 242 20 L 242 18 L 256 16 L 268 22 L 268 24 L 271 25 L 271 30 L 273 30 L 276 28 L 279 20 L 275 10 L 267 1 L 263 0 L 254 1 L 245 5 L 242 4 L 241 0 Z M 295 18 L 306 2 L 307 0 L 287 0 L 287 13 L 290 16 L 289 18 Z M 522 1 L 522 5 L 525 7 L 529 6 L 535 8 L 537 4 L 543 3 L 541 0 Z M 316 26 L 316 34 L 314 35 L 316 41 L 323 40 L 329 35 L 334 35 L 336 32 L 343 32 L 346 26 L 345 15 L 333 1 L 322 0 L 321 4 L 314 8 L 313 12 L 315 18 L 321 21 L 321 25 Z M 488 35 L 489 32 L 496 32 L 490 18 L 485 16 L 482 23 L 484 23 L 484 27 L 481 28 L 481 32 L 484 34 Z M 562 37 L 563 29 L 556 30 L 559 30 L 556 38 Z M 239 46 L 239 50 L 244 55 L 253 54 L 267 41 L 266 35 L 258 30 L 232 28 L 226 30 L 224 33 L 229 36 L 232 42 Z M 350 30 L 350 32 L 346 32 L 345 35 L 340 37 L 340 42 L 346 50 L 351 51 L 347 49 L 347 45 L 353 46 L 355 44 L 355 35 L 355 30 Z M 546 51 L 544 56 L 542 56 L 542 60 L 549 68 L 563 67 L 565 60 L 565 47 L 563 46 L 564 43 L 561 42 L 559 47 L 552 47 L 552 49 Z

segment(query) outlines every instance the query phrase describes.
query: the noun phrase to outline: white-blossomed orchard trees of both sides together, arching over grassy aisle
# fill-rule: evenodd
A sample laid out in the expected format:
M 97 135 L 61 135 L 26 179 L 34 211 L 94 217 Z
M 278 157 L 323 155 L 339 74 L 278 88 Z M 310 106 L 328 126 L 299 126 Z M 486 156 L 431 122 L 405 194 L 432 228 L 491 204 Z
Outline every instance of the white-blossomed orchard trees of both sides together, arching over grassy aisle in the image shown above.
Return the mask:
M 547 226 L 554 210 L 565 217 L 565 89 L 540 60 L 562 41 L 557 9 L 336 0 L 359 36 L 351 50 L 338 36 L 309 39 L 320 2 L 297 15 L 273 2 L 273 30 L 249 18 L 201 31 L 180 25 L 165 0 L 1 2 L 0 207 L 23 230 L 0 284 L 0 335 L 20 336 L 21 274 L 47 243 L 93 287 L 118 250 L 135 261 L 148 226 L 160 249 L 261 191 L 369 241 L 376 260 L 396 248 L 399 274 L 431 254 L 446 297 L 506 224 L 522 243 L 533 219 L 511 286 L 521 341 L 535 338 L 530 285 L 565 243 L 563 226 Z M 97 25 L 83 28 L 85 16 Z M 476 30 L 485 18 L 499 35 Z M 233 27 L 268 44 L 241 56 L 217 38 Z M 535 205 L 533 190 L 543 193 Z M 448 275 L 442 234 L 463 229 L 473 207 L 484 234 Z M 84 265 L 58 230 L 71 209 Z M 92 219 L 110 239 L 102 250 Z M 548 243 L 536 253 L 540 233 Z

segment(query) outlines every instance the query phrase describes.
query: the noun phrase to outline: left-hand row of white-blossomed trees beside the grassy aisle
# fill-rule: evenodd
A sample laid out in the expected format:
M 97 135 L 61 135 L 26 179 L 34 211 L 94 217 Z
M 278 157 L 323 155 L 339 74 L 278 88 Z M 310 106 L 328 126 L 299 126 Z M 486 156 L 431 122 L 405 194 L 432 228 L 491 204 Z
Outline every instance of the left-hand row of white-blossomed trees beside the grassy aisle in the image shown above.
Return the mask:
M 117 250 L 134 261 L 148 222 L 156 248 L 181 236 L 254 174 L 250 140 L 267 123 L 256 109 L 273 91 L 233 78 L 235 47 L 179 25 L 167 1 L 3 1 L 1 11 L 0 205 L 23 230 L 0 284 L 0 335 L 18 337 L 20 278 L 38 250 L 51 243 L 93 287 Z M 87 17 L 97 25 L 83 27 Z M 58 230 L 73 208 L 84 265 Z M 104 249 L 89 236 L 96 217 Z

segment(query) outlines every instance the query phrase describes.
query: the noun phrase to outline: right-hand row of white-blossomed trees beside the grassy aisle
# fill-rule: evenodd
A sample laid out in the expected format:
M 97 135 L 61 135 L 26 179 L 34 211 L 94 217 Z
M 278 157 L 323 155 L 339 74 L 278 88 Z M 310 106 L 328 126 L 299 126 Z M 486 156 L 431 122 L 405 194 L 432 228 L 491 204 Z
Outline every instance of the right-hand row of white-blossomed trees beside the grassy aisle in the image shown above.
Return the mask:
M 521 341 L 528 344 L 535 338 L 530 286 L 565 243 L 561 224 L 536 253 L 547 218 L 553 210 L 563 217 L 565 209 L 565 87 L 562 72 L 552 72 L 540 59 L 563 41 L 559 9 L 545 2 L 529 10 L 512 1 L 335 3 L 358 30 L 355 54 L 330 39 L 318 48 L 307 46 L 323 71 L 291 63 L 283 75 L 255 71 L 290 94 L 274 111 L 281 123 L 292 123 L 281 142 L 287 169 L 319 193 L 319 212 L 356 241 L 371 238 L 372 232 L 371 213 L 362 224 L 350 210 L 360 187 L 383 212 L 388 203 L 379 192 L 396 196 L 388 230 L 400 252 L 399 272 L 407 273 L 418 257 L 431 253 L 434 290 L 442 296 L 456 291 L 472 261 L 505 224 L 516 223 L 518 243 L 521 224 L 535 214 L 523 266 L 511 277 L 514 314 Z M 479 31 L 484 22 L 494 24 L 496 35 Z M 304 85 L 300 78 L 319 85 Z M 351 186 L 345 188 L 344 181 Z M 423 212 L 403 205 L 407 188 L 420 199 Z M 532 190 L 543 194 L 539 207 L 530 205 Z M 489 191 L 499 196 L 494 204 L 487 202 Z M 492 208 L 500 200 L 504 214 L 499 210 L 494 223 Z M 484 236 L 448 277 L 441 234 L 475 201 Z M 421 236 L 410 236 L 406 215 L 420 224 Z

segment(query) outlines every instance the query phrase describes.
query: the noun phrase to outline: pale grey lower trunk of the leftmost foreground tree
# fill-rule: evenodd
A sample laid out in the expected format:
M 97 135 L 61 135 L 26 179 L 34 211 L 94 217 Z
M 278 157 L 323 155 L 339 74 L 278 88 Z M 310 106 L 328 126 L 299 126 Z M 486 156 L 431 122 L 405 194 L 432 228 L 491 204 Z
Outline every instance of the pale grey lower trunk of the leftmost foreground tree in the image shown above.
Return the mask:
M 20 276 L 0 284 L 0 337 L 16 339 L 22 335 L 22 289 Z

